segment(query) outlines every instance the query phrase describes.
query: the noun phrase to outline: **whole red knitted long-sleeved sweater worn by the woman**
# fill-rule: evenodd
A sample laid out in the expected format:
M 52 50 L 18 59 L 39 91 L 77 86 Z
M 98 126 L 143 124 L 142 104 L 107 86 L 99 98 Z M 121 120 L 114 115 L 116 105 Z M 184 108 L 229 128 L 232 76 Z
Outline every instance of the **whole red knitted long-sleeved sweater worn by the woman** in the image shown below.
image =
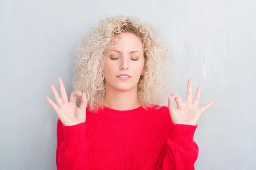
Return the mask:
M 57 122 L 58 170 L 194 170 L 198 125 L 173 124 L 169 108 L 86 111 L 86 121 Z

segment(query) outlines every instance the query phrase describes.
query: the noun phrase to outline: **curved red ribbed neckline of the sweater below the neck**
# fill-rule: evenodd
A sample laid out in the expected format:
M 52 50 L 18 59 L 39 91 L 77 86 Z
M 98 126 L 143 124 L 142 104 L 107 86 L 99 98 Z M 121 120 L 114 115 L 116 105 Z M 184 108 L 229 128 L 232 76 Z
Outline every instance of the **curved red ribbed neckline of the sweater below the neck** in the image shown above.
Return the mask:
M 145 109 L 140 106 L 138 108 L 130 109 L 130 110 L 115 110 L 112 108 L 108 108 L 106 106 L 103 106 L 103 113 L 105 113 L 107 116 L 112 116 L 112 117 L 133 117 L 142 114 Z

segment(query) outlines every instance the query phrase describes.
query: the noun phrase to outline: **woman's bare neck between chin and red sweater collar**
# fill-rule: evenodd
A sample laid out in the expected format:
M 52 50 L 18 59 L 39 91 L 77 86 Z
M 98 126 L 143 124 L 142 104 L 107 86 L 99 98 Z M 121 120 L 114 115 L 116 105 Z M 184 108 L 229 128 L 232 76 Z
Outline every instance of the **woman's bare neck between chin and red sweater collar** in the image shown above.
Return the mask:
M 107 88 L 104 106 L 119 111 L 140 107 L 141 104 L 137 96 L 137 87 L 128 91 L 118 91 L 113 88 Z

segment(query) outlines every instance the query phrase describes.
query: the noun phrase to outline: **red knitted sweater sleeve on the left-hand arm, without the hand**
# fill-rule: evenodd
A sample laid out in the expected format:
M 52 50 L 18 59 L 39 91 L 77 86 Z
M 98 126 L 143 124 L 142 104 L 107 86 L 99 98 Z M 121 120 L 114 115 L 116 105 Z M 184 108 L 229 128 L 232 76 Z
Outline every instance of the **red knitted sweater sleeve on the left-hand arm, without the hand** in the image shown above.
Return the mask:
M 88 150 L 90 142 L 86 135 L 86 122 L 64 126 L 57 122 L 57 170 L 90 170 Z

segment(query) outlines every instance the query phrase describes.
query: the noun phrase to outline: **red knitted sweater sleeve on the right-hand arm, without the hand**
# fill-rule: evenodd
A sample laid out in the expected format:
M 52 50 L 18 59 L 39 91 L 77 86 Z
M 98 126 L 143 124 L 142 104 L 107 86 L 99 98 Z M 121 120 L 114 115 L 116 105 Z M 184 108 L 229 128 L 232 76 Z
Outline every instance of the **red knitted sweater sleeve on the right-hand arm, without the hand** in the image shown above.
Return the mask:
M 172 124 L 156 170 L 195 170 L 199 149 L 193 138 L 197 126 Z

